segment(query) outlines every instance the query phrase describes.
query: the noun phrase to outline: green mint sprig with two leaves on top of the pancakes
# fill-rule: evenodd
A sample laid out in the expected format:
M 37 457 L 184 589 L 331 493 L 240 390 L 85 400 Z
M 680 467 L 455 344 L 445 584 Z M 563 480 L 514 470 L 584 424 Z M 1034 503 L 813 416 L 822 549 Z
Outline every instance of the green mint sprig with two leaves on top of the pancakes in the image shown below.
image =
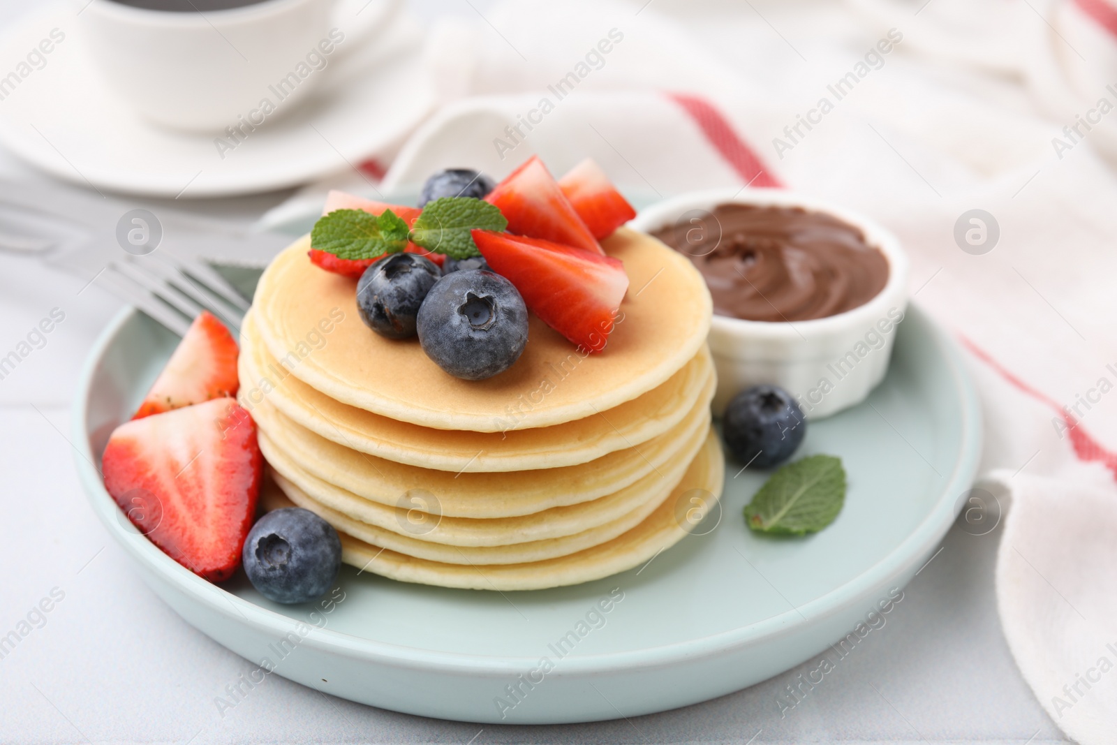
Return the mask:
M 410 229 L 391 210 L 379 217 L 364 210 L 334 210 L 311 230 L 311 248 L 341 259 L 373 259 L 402 251 L 410 240 L 455 259 L 480 256 L 471 230 L 503 231 L 508 221 L 495 204 L 471 197 L 443 197 L 428 202 Z

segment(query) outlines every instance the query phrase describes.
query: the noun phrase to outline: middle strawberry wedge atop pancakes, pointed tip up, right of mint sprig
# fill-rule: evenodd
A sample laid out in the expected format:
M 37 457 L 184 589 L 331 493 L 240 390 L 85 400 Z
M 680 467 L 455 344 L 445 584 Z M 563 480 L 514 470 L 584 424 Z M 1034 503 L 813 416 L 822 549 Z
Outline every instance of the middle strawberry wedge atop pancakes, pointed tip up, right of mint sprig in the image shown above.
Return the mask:
M 500 208 L 509 232 L 604 255 L 537 155 L 498 183 L 485 200 Z

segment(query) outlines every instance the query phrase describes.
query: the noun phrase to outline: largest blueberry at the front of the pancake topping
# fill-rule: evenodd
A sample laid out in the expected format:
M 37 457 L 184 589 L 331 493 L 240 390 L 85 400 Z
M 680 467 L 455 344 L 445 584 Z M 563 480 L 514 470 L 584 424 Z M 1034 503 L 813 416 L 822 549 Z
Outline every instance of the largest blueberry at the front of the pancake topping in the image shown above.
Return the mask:
M 439 279 L 419 308 L 419 343 L 456 378 L 504 372 L 527 344 L 527 306 L 498 274 L 466 269 Z

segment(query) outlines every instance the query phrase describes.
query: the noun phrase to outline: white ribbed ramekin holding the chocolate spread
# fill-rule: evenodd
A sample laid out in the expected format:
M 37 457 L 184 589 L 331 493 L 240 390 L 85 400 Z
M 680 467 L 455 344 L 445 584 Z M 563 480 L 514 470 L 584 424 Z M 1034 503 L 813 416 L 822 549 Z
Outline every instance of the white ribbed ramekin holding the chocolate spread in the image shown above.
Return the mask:
M 723 189 L 691 192 L 643 210 L 630 228 L 651 232 L 678 225 L 691 210 L 718 204 L 773 204 L 825 212 L 859 228 L 888 260 L 885 288 L 865 305 L 813 321 L 768 323 L 714 316 L 709 345 L 717 366 L 714 413 L 750 385 L 770 383 L 790 392 L 808 419 L 856 405 L 885 376 L 897 318 L 907 306 L 908 261 L 899 241 L 876 222 L 849 210 L 781 189 Z

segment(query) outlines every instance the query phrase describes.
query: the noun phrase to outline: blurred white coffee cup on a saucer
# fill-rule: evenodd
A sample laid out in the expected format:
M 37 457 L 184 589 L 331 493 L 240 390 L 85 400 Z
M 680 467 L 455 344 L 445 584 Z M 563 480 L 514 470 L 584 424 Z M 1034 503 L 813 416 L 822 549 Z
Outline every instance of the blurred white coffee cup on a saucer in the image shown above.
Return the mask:
M 375 9 L 342 22 L 334 0 L 261 0 L 200 12 L 93 0 L 80 15 L 82 36 L 109 88 L 140 116 L 174 130 L 221 132 L 294 108 L 330 63 L 397 4 L 372 1 Z

